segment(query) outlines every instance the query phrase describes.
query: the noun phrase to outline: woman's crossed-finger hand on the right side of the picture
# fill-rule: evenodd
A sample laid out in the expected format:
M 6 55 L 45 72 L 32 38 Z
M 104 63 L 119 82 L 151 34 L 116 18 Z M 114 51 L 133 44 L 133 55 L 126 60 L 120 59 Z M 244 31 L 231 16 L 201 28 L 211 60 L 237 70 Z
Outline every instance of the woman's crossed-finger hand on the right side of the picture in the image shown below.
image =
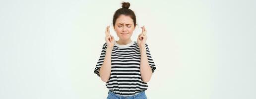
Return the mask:
M 142 29 L 142 32 L 141 34 L 139 34 L 138 38 L 137 38 L 137 43 L 138 43 L 138 46 L 139 48 L 141 47 L 145 47 L 145 44 L 146 44 L 146 40 L 147 40 L 147 31 L 145 29 L 145 26 L 141 27 Z

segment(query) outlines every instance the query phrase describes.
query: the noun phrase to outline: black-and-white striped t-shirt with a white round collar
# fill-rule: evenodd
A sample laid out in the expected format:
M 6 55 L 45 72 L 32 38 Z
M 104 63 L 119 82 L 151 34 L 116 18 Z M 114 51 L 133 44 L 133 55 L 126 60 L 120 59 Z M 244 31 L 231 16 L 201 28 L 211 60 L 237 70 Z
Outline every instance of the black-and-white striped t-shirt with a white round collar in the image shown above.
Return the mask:
M 151 57 L 148 45 L 145 44 L 148 63 L 152 72 L 156 69 Z M 100 58 L 94 69 L 94 73 L 99 75 L 100 67 L 106 55 L 107 43 L 103 45 Z M 147 90 L 147 83 L 143 82 L 140 76 L 140 49 L 137 42 L 132 41 L 127 45 L 115 45 L 111 54 L 111 74 L 106 82 L 107 88 L 121 96 L 132 96 Z

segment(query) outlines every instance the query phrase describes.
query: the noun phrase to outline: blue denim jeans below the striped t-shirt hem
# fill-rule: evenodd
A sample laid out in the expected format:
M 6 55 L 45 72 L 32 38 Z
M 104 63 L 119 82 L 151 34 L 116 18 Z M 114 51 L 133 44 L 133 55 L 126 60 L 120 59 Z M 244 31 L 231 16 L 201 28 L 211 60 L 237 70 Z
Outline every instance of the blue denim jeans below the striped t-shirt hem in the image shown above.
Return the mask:
M 107 99 L 147 99 L 147 97 L 145 95 L 145 91 L 133 96 L 120 96 L 109 91 Z

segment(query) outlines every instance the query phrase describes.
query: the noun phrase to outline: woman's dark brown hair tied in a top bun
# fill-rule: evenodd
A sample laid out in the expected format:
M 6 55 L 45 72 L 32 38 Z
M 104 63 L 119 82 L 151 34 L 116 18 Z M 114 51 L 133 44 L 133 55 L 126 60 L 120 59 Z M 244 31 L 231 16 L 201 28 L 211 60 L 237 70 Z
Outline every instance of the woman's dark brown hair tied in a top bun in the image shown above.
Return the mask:
M 123 4 L 122 8 L 119 8 L 113 16 L 113 26 L 115 26 L 117 18 L 120 15 L 124 14 L 124 15 L 130 16 L 130 18 L 133 20 L 133 24 L 134 24 L 134 27 L 135 27 L 136 26 L 136 16 L 135 16 L 134 12 L 131 9 L 129 9 L 130 3 L 129 2 L 123 2 L 122 4 Z

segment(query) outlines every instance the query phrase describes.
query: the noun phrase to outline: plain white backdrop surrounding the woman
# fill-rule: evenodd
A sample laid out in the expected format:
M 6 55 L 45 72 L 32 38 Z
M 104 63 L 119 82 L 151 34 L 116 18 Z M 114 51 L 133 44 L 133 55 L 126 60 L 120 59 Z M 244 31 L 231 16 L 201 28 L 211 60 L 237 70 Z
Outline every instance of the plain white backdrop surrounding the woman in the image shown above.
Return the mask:
M 1 0 L 0 99 L 106 99 L 93 70 L 121 2 Z M 149 99 L 256 99 L 256 0 L 129 2 L 157 66 Z

